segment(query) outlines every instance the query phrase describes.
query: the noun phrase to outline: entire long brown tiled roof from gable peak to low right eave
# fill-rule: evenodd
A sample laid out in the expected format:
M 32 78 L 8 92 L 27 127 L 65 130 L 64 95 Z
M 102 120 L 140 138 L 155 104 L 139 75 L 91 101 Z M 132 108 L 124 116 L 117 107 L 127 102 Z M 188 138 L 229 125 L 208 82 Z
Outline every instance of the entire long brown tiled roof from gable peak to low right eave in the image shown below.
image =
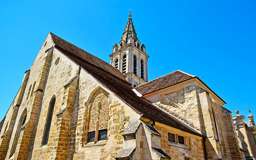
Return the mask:
M 54 47 L 57 50 L 59 50 L 77 65 L 81 66 L 86 72 L 88 72 L 91 76 L 93 76 L 102 85 L 108 88 L 108 90 L 113 92 L 117 97 L 123 100 L 141 116 L 148 117 L 160 123 L 167 124 L 169 126 L 190 132 L 192 134 L 196 134 L 198 136 L 204 136 L 178 118 L 170 116 L 144 98 L 138 97 L 136 93 L 132 91 L 132 87 L 129 85 L 129 83 L 126 83 L 127 81 L 122 80 L 122 77 L 119 76 L 119 73 L 116 73 L 120 71 L 117 69 L 114 70 L 115 68 L 112 69 L 112 66 L 108 63 L 104 63 L 103 60 L 100 60 L 99 58 L 82 50 L 81 48 L 70 44 L 60 37 L 52 34 L 51 32 L 50 34 L 55 44 Z M 122 73 L 120 72 L 120 74 Z

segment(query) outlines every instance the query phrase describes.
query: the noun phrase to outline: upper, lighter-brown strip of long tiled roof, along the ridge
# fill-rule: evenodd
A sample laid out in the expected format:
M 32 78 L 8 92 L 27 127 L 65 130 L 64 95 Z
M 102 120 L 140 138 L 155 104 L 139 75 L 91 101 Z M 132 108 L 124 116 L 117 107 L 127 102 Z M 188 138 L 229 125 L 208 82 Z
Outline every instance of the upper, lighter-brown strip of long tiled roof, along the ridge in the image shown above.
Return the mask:
M 60 47 L 62 50 L 65 50 L 69 53 L 72 53 L 74 54 L 74 56 L 77 56 L 83 60 L 86 60 L 88 61 L 89 63 L 93 64 L 93 65 L 96 65 L 98 67 L 100 67 L 101 69 L 104 69 L 105 71 L 113 74 L 114 76 L 117 76 L 118 78 L 124 80 L 124 81 L 127 81 L 125 78 L 124 78 L 124 75 L 119 71 L 117 70 L 116 68 L 114 68 L 113 66 L 109 65 L 107 62 L 99 59 L 98 57 L 84 51 L 83 49 L 75 46 L 74 44 L 71 44 L 67 41 L 65 41 L 64 39 L 54 35 L 53 33 L 51 33 L 51 36 L 52 36 L 52 40 L 55 44 L 55 47 Z

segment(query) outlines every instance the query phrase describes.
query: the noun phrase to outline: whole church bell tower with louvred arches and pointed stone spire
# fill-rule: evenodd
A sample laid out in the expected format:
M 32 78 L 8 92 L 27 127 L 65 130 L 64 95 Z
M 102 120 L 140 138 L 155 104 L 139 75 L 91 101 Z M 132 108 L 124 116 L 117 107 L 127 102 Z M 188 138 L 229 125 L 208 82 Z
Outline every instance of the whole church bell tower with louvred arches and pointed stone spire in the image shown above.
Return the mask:
M 113 53 L 109 56 L 110 64 L 124 74 L 132 87 L 148 82 L 149 56 L 146 54 L 145 45 L 140 45 L 131 14 L 119 45 L 113 46 Z

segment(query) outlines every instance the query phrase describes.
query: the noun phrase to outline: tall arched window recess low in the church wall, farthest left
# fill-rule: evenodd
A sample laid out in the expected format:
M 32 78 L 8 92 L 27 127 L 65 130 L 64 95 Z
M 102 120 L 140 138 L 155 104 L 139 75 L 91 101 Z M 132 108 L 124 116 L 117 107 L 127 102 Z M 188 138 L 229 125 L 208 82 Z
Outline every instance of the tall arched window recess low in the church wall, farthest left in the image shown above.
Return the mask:
M 10 157 L 13 155 L 13 153 L 16 150 L 16 146 L 17 146 L 18 140 L 20 138 L 20 132 L 22 129 L 21 127 L 25 124 L 26 119 L 27 119 L 27 108 L 24 109 L 23 113 L 20 116 L 20 121 L 19 121 L 18 128 L 17 128 L 16 134 L 15 134 L 14 140 L 13 140 Z

